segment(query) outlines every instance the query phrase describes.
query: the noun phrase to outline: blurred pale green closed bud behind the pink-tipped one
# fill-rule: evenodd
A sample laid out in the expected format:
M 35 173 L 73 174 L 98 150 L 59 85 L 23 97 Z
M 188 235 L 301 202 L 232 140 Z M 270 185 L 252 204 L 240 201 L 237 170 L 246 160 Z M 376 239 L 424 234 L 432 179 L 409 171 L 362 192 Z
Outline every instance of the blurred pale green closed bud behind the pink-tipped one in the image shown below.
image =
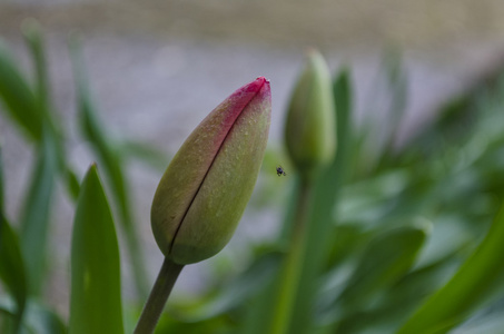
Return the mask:
M 333 160 L 336 150 L 335 102 L 329 69 L 315 50 L 294 89 L 285 139 L 294 166 L 304 178 Z

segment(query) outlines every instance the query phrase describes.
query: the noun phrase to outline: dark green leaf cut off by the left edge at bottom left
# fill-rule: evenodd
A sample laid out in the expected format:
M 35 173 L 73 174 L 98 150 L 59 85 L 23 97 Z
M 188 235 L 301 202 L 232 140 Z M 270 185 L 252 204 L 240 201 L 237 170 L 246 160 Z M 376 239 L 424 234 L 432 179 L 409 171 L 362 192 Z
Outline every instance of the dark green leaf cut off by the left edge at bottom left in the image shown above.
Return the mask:
M 0 278 L 17 304 L 12 331 L 17 333 L 27 303 L 27 277 L 18 236 L 7 222 L 2 208 L 0 208 Z

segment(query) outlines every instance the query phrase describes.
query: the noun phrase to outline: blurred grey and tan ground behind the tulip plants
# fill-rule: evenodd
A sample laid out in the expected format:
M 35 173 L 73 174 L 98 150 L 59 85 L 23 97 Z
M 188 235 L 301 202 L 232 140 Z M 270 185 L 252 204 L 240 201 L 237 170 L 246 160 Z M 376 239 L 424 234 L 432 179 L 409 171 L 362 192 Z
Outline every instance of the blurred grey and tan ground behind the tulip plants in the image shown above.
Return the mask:
M 307 47 L 319 49 L 335 72 L 340 66 L 352 68 L 358 115 L 375 111 L 383 55 L 399 50 L 408 78 L 401 137 L 407 137 L 442 101 L 501 67 L 503 17 L 500 0 L 0 0 L 0 36 L 19 66 L 31 73 L 20 27 L 28 18 L 42 26 L 53 101 L 70 134 L 72 165 L 83 174 L 92 157 L 77 135 L 70 33 L 82 37 L 91 89 L 110 132 L 155 145 L 168 156 L 215 106 L 258 76 L 271 81 L 269 145 L 279 148 L 289 91 Z M 32 147 L 17 130 L 0 114 L 6 200 L 12 220 L 32 163 Z M 161 254 L 150 233 L 149 206 L 160 171 L 132 165 L 129 174 L 154 281 Z M 243 243 L 274 233 L 280 215 L 248 208 L 224 254 L 187 267 L 175 293 L 197 293 L 219 262 L 240 256 Z M 49 291 L 65 314 L 72 222 L 72 205 L 65 196 L 58 198 L 52 217 L 57 242 L 51 247 L 58 261 Z M 127 258 L 122 264 L 123 289 L 130 296 Z

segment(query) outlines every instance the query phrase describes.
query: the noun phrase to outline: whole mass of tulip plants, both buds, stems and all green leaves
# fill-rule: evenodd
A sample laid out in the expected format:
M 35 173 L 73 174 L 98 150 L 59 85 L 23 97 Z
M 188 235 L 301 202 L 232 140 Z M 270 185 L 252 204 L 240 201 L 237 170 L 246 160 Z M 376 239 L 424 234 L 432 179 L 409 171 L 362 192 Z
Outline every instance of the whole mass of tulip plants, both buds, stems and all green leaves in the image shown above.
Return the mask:
M 0 143 L 1 333 L 502 333 L 500 73 L 447 98 L 398 143 L 407 104 L 399 57 L 385 58 L 357 122 L 350 70 L 333 75 L 310 49 L 293 82 L 283 146 L 267 146 L 270 82 L 230 89 L 165 174 L 154 167 L 160 180 L 140 223 L 126 166 L 152 168 L 167 153 L 109 135 L 72 38 L 79 136 L 96 157 L 78 175 L 51 101 L 41 30 L 28 22 L 22 32 L 32 77 L 0 43 L 2 121 L 34 154 L 24 203 L 7 217 Z M 59 185 L 75 209 L 67 314 L 45 293 Z M 227 245 L 247 204 L 280 212 L 278 233 L 247 245 L 247 258 L 225 262 L 198 297 L 170 299 L 185 266 Z M 165 258 L 154 286 L 138 239 L 149 218 Z M 136 301 L 121 295 L 122 253 Z

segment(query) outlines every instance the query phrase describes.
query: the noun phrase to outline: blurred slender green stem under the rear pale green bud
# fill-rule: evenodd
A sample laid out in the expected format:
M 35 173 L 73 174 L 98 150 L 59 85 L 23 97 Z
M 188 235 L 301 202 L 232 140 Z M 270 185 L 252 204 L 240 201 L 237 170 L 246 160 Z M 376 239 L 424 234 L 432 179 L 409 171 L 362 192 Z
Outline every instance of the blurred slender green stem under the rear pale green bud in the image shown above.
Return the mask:
M 302 180 L 289 248 L 280 269 L 280 285 L 274 308 L 275 314 L 269 328 L 269 333 L 271 334 L 287 333 L 289 330 L 293 307 L 296 299 L 304 256 L 306 253 L 305 245 L 306 238 L 308 237 L 307 220 L 310 197 L 310 183 Z

